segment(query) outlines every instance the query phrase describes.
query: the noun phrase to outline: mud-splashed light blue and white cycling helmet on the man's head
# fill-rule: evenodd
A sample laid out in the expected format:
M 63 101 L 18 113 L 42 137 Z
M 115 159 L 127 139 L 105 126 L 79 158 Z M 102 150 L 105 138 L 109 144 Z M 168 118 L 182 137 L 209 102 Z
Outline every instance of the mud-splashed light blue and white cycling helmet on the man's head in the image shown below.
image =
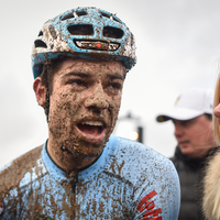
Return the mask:
M 34 78 L 43 64 L 59 56 L 121 61 L 127 72 L 136 63 L 134 37 L 114 14 L 97 8 L 77 8 L 44 23 L 34 41 Z

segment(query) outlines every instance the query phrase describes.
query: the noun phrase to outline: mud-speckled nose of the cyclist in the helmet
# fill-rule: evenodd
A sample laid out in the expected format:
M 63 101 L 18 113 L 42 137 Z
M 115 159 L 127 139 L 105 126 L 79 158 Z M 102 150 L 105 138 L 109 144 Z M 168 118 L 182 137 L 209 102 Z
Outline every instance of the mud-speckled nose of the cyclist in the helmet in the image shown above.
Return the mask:
M 95 109 L 109 108 L 109 103 L 107 101 L 107 95 L 100 82 L 96 84 L 96 86 L 90 92 L 91 92 L 90 96 L 88 96 L 88 98 L 85 100 L 86 108 L 95 108 Z

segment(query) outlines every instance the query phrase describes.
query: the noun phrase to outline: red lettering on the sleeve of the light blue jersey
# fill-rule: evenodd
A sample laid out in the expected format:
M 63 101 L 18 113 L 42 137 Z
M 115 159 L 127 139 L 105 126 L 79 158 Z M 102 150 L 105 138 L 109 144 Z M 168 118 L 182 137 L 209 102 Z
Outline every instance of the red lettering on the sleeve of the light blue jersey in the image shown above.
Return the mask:
M 140 212 L 140 218 L 142 220 L 162 220 L 162 217 L 160 217 L 160 213 L 162 213 L 162 209 L 154 209 L 155 204 L 153 200 L 151 200 L 154 196 L 156 196 L 156 191 L 153 190 L 150 194 L 147 194 L 145 197 L 141 199 L 139 205 L 136 206 L 136 209 Z

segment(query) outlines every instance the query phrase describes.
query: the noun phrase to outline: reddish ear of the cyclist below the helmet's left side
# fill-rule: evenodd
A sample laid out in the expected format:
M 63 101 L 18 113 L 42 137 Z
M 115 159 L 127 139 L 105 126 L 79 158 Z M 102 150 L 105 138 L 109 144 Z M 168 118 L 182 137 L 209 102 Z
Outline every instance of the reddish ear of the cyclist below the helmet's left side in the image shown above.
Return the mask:
M 46 87 L 42 85 L 41 77 L 35 78 L 34 84 L 33 84 L 33 89 L 35 92 L 37 103 L 45 109 L 46 108 Z

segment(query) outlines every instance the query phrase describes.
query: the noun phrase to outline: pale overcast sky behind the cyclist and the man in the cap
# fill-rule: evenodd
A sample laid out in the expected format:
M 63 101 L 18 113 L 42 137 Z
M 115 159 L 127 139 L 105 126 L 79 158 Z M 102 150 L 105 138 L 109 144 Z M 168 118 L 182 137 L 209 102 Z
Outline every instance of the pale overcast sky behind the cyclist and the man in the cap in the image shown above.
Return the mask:
M 140 119 L 144 144 L 172 156 L 173 124 L 157 123 L 156 116 L 187 88 L 215 88 L 219 0 L 1 0 L 0 167 L 47 139 L 32 89 L 32 45 L 44 22 L 77 7 L 117 13 L 134 34 L 138 64 L 127 76 L 119 118 L 131 112 Z

